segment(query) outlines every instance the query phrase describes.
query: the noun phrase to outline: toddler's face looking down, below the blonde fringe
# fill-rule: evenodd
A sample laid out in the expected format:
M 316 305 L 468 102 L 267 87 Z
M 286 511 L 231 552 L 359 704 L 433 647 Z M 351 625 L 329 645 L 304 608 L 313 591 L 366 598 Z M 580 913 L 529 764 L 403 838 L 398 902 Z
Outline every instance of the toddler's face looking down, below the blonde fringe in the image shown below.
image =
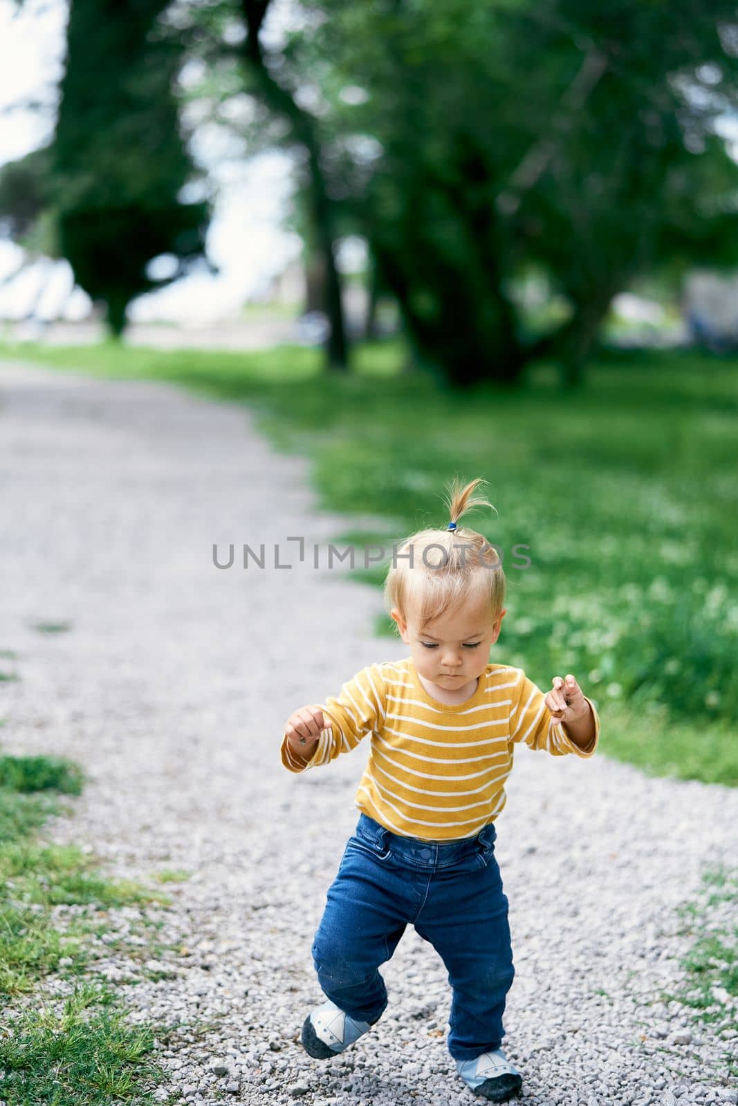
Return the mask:
M 502 611 L 492 620 L 489 604 L 467 605 L 446 612 L 422 628 L 412 611 L 407 622 L 396 608 L 392 617 L 397 623 L 403 641 L 410 647 L 419 675 L 451 691 L 462 688 L 485 671 L 490 647 L 497 641 L 506 613 Z

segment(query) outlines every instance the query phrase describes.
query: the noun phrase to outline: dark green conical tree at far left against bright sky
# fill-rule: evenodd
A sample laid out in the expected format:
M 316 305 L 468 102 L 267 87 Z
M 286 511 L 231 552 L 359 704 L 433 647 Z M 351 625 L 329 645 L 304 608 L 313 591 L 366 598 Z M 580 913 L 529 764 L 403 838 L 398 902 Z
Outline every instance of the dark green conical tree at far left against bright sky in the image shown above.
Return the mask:
M 52 144 L 0 171 L 0 218 L 32 250 L 61 255 L 119 334 L 126 306 L 204 255 L 209 205 L 183 202 L 195 168 L 173 84 L 179 41 L 166 0 L 72 0 Z M 169 271 L 147 265 L 170 254 Z

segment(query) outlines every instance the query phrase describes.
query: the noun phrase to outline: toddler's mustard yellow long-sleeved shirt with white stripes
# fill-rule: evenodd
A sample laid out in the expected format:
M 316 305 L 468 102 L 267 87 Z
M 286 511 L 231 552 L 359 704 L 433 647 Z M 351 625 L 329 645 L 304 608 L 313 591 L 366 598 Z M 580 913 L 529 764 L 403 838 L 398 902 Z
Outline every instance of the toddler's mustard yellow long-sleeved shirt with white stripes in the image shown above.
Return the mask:
M 282 738 L 290 772 L 328 764 L 367 733 L 371 750 L 356 807 L 392 833 L 422 841 L 474 837 L 505 806 L 505 782 L 517 742 L 552 757 L 591 757 L 600 718 L 586 749 L 569 740 L 549 712 L 543 692 L 521 668 L 487 665 L 466 702 L 433 699 L 412 658 L 363 668 L 322 706 L 330 726 L 306 763 Z

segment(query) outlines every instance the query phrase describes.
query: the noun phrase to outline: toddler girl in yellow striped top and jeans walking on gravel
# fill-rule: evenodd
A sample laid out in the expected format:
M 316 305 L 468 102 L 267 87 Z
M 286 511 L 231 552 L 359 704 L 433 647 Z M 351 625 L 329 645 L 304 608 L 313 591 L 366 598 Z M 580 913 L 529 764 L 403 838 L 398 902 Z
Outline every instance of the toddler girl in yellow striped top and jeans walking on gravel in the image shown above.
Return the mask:
M 362 669 L 324 705 L 284 727 L 283 765 L 328 764 L 367 733 L 362 812 L 329 888 L 312 957 L 325 1002 L 305 1019 L 310 1056 L 343 1052 L 384 1013 L 378 971 L 408 924 L 429 941 L 453 988 L 448 1050 L 477 1095 L 505 1102 L 522 1085 L 500 1047 L 514 974 L 495 823 L 514 744 L 591 757 L 597 713 L 576 680 L 543 695 L 520 668 L 489 664 L 506 614 L 505 575 L 482 534 L 459 526 L 472 480 L 450 486 L 446 530 L 396 551 L 385 598 L 409 657 Z M 493 510 L 493 508 L 492 508 Z

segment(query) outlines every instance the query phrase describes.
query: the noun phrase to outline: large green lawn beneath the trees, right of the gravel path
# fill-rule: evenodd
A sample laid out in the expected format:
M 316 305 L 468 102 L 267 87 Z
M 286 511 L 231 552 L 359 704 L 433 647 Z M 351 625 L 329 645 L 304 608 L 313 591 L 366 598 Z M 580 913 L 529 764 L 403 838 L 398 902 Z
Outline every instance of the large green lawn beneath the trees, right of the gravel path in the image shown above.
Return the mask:
M 277 448 L 311 457 L 328 510 L 386 518 L 386 530 L 349 529 L 337 544 L 382 540 L 389 552 L 413 530 L 445 526 L 450 477 L 485 477 L 498 514 L 467 521 L 501 547 L 509 581 L 491 659 L 543 688 L 573 671 L 601 710 L 604 753 L 738 784 L 738 361 L 609 354 L 578 395 L 545 365 L 518 390 L 457 395 L 401 372 L 392 343 L 362 347 L 354 373 L 330 377 L 320 352 L 287 346 L 0 355 L 248 403 Z M 383 572 L 356 575 L 376 586 Z M 392 632 L 384 615 L 378 627 Z

